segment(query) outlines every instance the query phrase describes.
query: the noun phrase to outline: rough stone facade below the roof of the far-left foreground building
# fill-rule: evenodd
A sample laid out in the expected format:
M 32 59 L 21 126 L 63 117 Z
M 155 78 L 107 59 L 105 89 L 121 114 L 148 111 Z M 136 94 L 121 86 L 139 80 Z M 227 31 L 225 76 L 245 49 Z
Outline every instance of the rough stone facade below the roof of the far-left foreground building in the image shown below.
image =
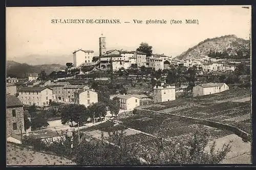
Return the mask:
M 12 110 L 16 110 L 16 117 L 12 117 Z M 17 130 L 13 130 L 13 123 L 17 123 Z M 11 134 L 20 134 L 20 125 L 22 126 L 22 133 L 24 131 L 24 110 L 23 107 L 7 108 L 6 109 L 6 138 Z

